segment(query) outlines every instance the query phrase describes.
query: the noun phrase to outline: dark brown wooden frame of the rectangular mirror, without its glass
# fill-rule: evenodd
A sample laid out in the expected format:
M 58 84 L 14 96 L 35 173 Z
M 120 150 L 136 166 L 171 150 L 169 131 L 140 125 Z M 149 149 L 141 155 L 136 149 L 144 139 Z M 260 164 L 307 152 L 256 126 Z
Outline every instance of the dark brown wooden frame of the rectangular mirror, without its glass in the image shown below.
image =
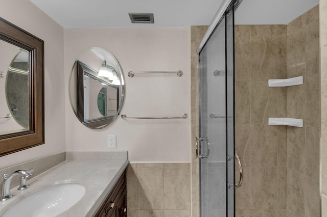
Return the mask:
M 30 52 L 30 129 L 0 135 L 0 156 L 44 144 L 44 41 L 0 17 L 0 39 Z

